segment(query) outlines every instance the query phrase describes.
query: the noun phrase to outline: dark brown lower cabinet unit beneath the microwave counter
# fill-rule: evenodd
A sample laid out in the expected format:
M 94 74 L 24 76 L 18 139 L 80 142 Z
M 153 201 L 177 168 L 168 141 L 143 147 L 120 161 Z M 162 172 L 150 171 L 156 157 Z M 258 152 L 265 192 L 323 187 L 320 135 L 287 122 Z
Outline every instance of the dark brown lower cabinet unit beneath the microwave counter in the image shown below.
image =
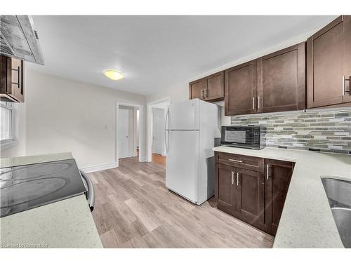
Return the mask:
M 275 235 L 293 163 L 216 152 L 218 209 Z

